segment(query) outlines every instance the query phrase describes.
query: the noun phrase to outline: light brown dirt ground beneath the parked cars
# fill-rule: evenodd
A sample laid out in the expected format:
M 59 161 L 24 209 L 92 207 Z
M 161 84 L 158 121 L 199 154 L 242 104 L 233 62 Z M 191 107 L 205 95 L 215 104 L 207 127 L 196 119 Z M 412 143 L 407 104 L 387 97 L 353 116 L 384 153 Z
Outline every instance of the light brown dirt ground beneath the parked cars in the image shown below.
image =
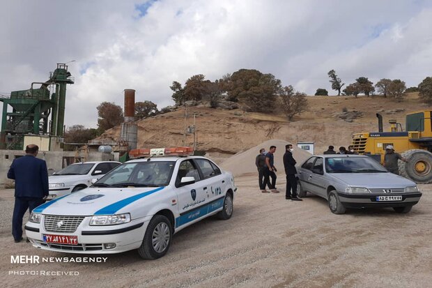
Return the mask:
M 282 178 L 281 193 L 262 194 L 256 177 L 237 177 L 233 217 L 212 217 L 184 229 L 168 254 L 154 261 L 134 251 L 72 255 L 13 243 L 13 190 L 0 190 L 1 286 L 431 287 L 432 185 L 419 185 L 423 197 L 406 215 L 392 209 L 334 215 L 318 197 L 285 200 Z M 15 255 L 103 256 L 107 262 L 12 264 Z M 13 275 L 26 273 L 21 271 L 72 275 Z

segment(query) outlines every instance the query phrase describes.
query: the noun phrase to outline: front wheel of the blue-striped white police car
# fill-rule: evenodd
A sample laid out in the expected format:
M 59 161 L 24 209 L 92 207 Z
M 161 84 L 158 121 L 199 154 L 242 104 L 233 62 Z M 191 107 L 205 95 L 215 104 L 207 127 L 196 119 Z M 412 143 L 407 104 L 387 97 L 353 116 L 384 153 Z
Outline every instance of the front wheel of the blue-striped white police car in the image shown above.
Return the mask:
M 138 248 L 139 256 L 144 259 L 157 259 L 164 256 L 171 244 L 171 237 L 171 222 L 164 215 L 155 215 L 148 223 L 143 242 Z

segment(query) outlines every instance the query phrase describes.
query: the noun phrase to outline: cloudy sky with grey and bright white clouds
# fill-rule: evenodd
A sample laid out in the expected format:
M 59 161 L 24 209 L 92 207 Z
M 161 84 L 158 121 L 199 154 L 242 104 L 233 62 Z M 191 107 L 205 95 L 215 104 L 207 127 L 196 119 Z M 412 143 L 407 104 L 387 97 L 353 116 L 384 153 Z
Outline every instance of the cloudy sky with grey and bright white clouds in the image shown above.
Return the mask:
M 171 83 L 195 74 L 258 69 L 311 95 L 331 90 L 331 69 L 347 84 L 364 76 L 417 86 L 432 74 L 427 0 L 3 0 L 0 21 L 0 93 L 75 60 L 68 126 L 95 128 L 96 107 L 123 107 L 123 89 L 173 105 Z

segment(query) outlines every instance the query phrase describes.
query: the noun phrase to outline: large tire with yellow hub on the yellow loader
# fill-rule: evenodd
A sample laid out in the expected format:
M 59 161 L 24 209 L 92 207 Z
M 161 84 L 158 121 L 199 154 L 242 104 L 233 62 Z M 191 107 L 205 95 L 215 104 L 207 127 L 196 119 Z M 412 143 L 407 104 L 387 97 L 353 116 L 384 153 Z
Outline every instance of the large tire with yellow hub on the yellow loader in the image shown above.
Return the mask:
M 401 153 L 408 162 L 399 160 L 399 175 L 417 184 L 432 183 L 432 153 L 422 149 L 411 149 Z

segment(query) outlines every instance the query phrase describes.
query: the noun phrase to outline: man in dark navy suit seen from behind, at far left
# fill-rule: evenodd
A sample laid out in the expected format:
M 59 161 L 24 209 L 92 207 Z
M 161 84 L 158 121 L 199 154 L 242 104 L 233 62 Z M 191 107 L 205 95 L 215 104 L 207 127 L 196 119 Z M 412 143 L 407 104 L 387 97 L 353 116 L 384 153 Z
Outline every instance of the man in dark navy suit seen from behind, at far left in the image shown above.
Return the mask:
M 15 243 L 22 241 L 22 218 L 27 209 L 33 211 L 49 195 L 47 163 L 38 156 L 39 147 L 26 146 L 26 155 L 13 160 L 8 172 L 15 179 L 15 207 L 13 209 L 12 235 Z

